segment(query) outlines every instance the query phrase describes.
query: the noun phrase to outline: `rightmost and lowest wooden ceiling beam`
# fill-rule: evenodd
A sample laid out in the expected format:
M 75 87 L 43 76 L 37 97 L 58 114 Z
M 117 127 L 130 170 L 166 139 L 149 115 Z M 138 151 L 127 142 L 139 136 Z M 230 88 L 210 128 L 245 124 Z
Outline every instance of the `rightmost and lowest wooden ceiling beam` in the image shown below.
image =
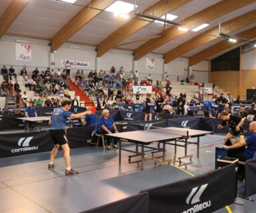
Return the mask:
M 238 33 L 235 36 L 241 37 L 244 39 L 249 39 L 249 40 L 255 39 L 256 38 L 256 27 L 248 29 L 247 31 L 243 31 L 242 33 Z M 232 43 L 227 40 L 221 41 L 221 42 L 201 51 L 200 53 L 197 53 L 197 54 L 193 55 L 192 57 L 190 57 L 188 59 L 188 64 L 189 64 L 189 66 L 196 65 L 197 63 L 199 63 L 205 59 L 209 59 L 209 57 L 213 57 L 214 55 L 217 55 L 218 53 L 221 53 L 227 49 L 230 49 L 231 47 L 237 47 L 237 45 L 243 44 L 243 43 L 244 43 L 244 41 L 241 41 L 241 40 L 237 40 L 236 43 Z

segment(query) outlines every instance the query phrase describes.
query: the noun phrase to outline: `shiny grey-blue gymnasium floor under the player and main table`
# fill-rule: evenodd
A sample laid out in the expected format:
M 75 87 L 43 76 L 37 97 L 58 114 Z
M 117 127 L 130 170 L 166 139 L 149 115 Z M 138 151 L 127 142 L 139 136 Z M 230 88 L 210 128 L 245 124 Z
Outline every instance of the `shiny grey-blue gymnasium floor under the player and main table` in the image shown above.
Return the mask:
M 200 158 L 193 157 L 188 172 L 198 175 L 214 169 L 215 146 L 223 135 L 201 138 Z M 173 158 L 173 146 L 167 146 L 167 158 Z M 196 146 L 188 146 L 188 154 L 196 155 Z M 183 154 L 178 148 L 177 156 Z M 47 169 L 49 152 L 0 159 L 0 212 L 82 212 L 108 202 L 138 194 L 140 190 L 190 178 L 190 174 L 172 165 L 156 166 L 155 160 L 128 164 L 128 152 L 122 152 L 118 165 L 118 150 L 103 150 L 93 146 L 71 150 L 72 165 L 78 176 L 64 176 L 63 152 L 59 151 L 55 169 Z M 160 162 L 158 162 L 160 164 Z M 184 166 L 182 166 L 184 168 Z M 238 192 L 243 194 L 243 182 Z M 256 200 L 256 195 L 252 196 Z M 222 212 L 256 212 L 255 202 L 237 198 L 236 202 L 218 210 Z

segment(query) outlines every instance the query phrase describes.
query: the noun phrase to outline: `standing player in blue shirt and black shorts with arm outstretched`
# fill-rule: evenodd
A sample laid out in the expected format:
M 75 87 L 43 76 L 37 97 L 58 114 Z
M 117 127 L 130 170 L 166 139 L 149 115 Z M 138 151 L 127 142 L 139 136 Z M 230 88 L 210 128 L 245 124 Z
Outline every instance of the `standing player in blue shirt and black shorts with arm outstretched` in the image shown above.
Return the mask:
M 54 142 L 54 147 L 53 147 L 53 150 L 51 150 L 51 158 L 49 160 L 48 168 L 54 167 L 53 160 L 57 154 L 57 150 L 59 149 L 59 146 L 61 146 L 61 148 L 64 151 L 64 158 L 66 161 L 65 175 L 72 175 L 72 174 L 79 173 L 73 170 L 70 166 L 70 146 L 68 146 L 68 140 L 65 135 L 67 118 L 68 117 L 80 118 L 82 116 L 85 116 L 86 114 L 92 114 L 91 111 L 73 114 L 72 112 L 69 111 L 71 108 L 71 105 L 72 105 L 71 101 L 63 101 L 63 103 L 61 103 L 61 107 L 54 108 L 51 116 L 51 120 L 49 120 L 49 125 L 51 125 L 49 133 Z

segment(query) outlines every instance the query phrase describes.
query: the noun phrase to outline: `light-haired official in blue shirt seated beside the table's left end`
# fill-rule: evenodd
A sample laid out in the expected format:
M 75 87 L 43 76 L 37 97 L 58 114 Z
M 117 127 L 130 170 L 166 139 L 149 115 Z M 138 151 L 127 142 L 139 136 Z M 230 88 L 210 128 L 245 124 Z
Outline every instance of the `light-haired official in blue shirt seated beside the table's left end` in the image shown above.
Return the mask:
M 98 122 L 98 133 L 99 134 L 112 134 L 112 133 L 118 133 L 118 130 L 116 128 L 116 125 L 114 124 L 114 120 L 112 117 L 110 117 L 110 111 L 107 109 L 102 110 L 102 117 L 100 118 Z M 107 149 L 109 150 L 111 138 L 107 139 Z M 117 139 L 114 138 L 114 146 L 113 148 L 118 148 Z

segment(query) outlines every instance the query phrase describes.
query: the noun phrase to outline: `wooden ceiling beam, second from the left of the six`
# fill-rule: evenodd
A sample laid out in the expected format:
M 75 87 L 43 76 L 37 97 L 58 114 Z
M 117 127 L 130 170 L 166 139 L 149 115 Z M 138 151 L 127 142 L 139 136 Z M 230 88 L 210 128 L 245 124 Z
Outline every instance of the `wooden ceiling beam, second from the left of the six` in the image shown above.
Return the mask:
M 76 14 L 59 32 L 51 39 L 51 52 L 57 51 L 63 43 L 68 41 L 77 31 L 84 25 L 91 21 L 96 15 L 101 13 L 101 10 L 106 9 L 109 5 L 116 0 L 92 0 L 88 6 L 84 7 L 78 14 Z M 91 7 L 97 8 L 92 9 Z

